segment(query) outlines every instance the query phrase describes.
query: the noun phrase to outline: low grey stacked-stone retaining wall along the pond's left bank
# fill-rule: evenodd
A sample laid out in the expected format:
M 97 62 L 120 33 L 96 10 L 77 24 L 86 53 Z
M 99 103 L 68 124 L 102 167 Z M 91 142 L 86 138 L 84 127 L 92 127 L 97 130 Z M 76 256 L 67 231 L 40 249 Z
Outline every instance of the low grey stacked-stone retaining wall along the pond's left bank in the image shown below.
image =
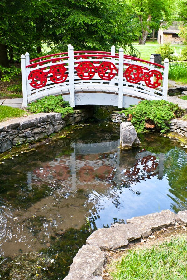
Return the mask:
M 74 110 L 74 114 L 62 117 L 60 113 L 39 113 L 0 123 L 0 153 L 12 146 L 37 141 L 65 126 L 79 123 L 93 115 L 93 106 Z

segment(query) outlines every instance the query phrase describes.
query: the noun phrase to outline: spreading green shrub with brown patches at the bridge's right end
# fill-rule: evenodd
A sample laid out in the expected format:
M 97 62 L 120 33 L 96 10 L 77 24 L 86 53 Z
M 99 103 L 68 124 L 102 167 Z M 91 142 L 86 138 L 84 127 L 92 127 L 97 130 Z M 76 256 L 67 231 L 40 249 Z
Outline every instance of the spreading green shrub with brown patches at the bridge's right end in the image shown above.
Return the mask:
M 138 105 L 126 108 L 122 112 L 125 115 L 131 114 L 129 120 L 137 132 L 156 128 L 161 133 L 164 133 L 169 128 L 170 120 L 182 116 L 184 110 L 177 104 L 169 103 L 165 100 L 144 100 Z

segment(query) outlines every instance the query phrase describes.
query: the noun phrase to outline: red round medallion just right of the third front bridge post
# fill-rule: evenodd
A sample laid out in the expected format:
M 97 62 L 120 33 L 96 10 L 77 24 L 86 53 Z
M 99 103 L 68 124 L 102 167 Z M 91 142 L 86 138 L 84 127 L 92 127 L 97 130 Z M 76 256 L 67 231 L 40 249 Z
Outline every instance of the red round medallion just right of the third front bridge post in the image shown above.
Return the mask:
M 143 69 L 138 65 L 129 66 L 124 73 L 127 82 L 136 84 L 142 80 Z

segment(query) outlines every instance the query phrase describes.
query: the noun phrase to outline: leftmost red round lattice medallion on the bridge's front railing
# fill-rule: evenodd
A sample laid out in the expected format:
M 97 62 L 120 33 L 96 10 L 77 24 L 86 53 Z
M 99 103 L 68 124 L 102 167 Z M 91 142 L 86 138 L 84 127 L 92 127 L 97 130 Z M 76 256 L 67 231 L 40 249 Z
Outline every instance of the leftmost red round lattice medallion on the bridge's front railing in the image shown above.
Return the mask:
M 28 80 L 31 80 L 29 83 L 34 88 L 41 88 L 47 83 L 47 73 L 42 70 L 36 69 L 32 70 L 29 73 Z

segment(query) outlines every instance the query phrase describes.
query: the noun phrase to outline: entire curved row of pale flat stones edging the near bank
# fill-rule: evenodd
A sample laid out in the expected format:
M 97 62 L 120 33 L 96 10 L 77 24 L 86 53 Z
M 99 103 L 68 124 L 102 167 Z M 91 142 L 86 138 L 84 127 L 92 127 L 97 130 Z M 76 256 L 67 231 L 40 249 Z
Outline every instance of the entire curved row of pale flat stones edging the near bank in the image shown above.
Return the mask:
M 187 211 L 174 214 L 170 210 L 162 210 L 160 213 L 133 217 L 126 222 L 127 224 L 115 223 L 109 228 L 94 231 L 86 240 L 86 245 L 83 245 L 74 257 L 65 280 L 103 280 L 102 270 L 106 263 L 106 253 L 102 250 L 115 250 L 127 246 L 133 240 L 145 239 L 156 230 L 169 226 L 180 224 L 185 228 Z

